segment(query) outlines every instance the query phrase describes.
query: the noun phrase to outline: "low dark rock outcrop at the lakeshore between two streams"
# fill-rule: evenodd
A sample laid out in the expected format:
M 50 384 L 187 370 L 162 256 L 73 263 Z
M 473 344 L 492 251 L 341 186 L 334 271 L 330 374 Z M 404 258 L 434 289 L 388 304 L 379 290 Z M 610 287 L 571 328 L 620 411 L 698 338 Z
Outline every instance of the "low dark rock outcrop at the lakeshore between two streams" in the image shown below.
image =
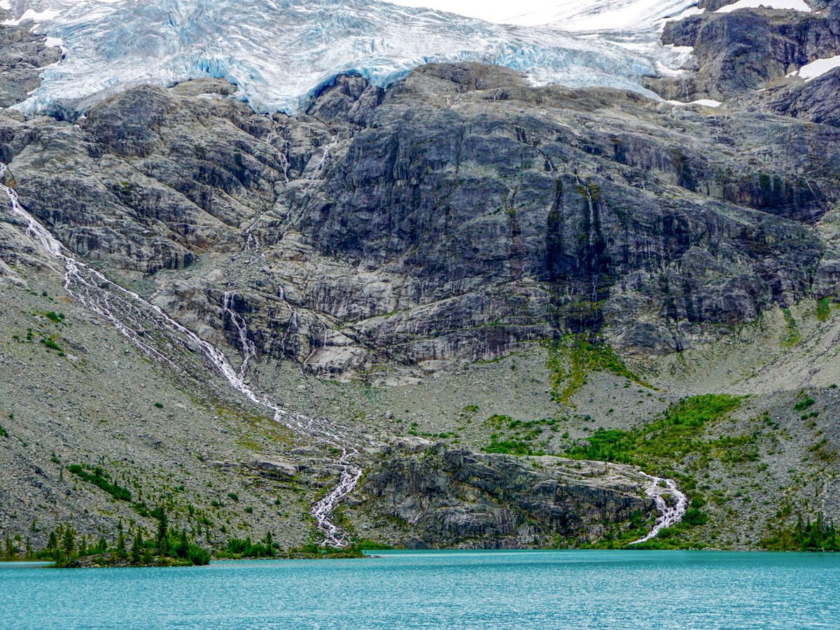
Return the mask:
M 515 549 L 596 539 L 655 512 L 625 466 L 396 444 L 365 475 L 365 509 L 405 524 L 409 547 Z

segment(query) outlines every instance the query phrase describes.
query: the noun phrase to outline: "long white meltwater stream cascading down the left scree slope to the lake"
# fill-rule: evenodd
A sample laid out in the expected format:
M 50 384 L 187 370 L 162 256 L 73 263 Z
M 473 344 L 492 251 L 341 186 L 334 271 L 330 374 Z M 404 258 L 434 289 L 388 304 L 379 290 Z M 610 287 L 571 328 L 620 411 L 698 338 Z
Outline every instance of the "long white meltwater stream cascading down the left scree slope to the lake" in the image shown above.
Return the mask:
M 6 170 L 7 166 L 0 163 L 0 178 L 5 175 Z M 50 234 L 47 228 L 26 211 L 18 201 L 17 192 L 2 183 L 0 183 L 0 188 L 3 189 L 3 192 L 5 192 L 11 203 L 13 214 L 22 219 L 26 224 L 26 234 L 29 238 L 43 249 L 46 254 L 63 263 L 65 267 L 65 290 L 67 294 L 92 310 L 92 312 L 97 313 L 97 315 L 112 323 L 119 333 L 130 339 L 144 354 L 176 367 L 171 359 L 152 345 L 151 341 L 147 342 L 144 339 L 144 326 L 140 318 L 148 315 L 148 312 L 152 312 L 161 320 L 165 328 L 168 328 L 170 333 L 176 333 L 176 336 L 180 336 L 181 341 L 186 340 L 185 345 L 187 347 L 192 345 L 192 347 L 197 348 L 213 364 L 223 376 L 224 380 L 228 381 L 228 384 L 236 391 L 239 391 L 256 405 L 269 409 L 274 414 L 274 419 L 277 423 L 285 425 L 292 431 L 307 435 L 307 437 L 315 439 L 322 444 L 341 450 L 342 455 L 338 461 L 339 466 L 342 468 L 339 483 L 321 501 L 315 503 L 310 512 L 318 522 L 318 527 L 322 529 L 325 542 L 328 545 L 333 547 L 347 546 L 350 542 L 349 535 L 338 528 L 329 518 L 339 502 L 354 490 L 362 475 L 360 467 L 353 464 L 353 459 L 359 454 L 359 450 L 352 445 L 346 429 L 333 425 L 333 423 L 329 423 L 326 419 L 307 417 L 300 413 L 289 412 L 277 406 L 274 402 L 271 402 L 267 397 L 257 394 L 244 382 L 244 370 L 241 368 L 239 371 L 234 370 L 233 365 L 230 365 L 220 349 L 207 343 L 207 341 L 198 337 L 196 333 L 177 323 L 162 308 L 147 302 L 136 293 L 108 280 L 99 271 L 81 262 L 81 260 L 77 260 L 69 250 L 66 250 Z M 123 318 L 129 320 L 129 325 L 123 319 L 119 318 L 115 314 L 116 312 L 121 312 Z M 241 318 L 239 322 L 234 320 L 234 324 L 238 328 L 239 324 L 242 324 L 243 328 L 239 329 L 240 339 L 247 339 L 247 328 L 244 328 L 244 320 L 241 320 Z M 243 334 L 244 337 L 242 337 Z M 247 352 L 250 352 L 250 349 Z M 245 361 L 247 362 L 247 360 L 248 357 L 246 355 Z M 244 369 L 247 370 L 247 365 L 245 365 Z

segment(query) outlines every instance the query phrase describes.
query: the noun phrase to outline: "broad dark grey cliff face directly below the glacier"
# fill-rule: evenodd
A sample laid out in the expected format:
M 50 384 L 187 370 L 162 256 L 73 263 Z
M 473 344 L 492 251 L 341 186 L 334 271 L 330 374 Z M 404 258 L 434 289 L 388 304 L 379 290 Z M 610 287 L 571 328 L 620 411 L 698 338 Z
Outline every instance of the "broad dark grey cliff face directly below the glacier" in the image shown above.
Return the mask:
M 567 332 L 671 352 L 831 291 L 840 132 L 792 115 L 832 89 L 711 115 L 432 65 L 299 118 L 191 81 L 0 138 L 32 213 L 214 343 L 240 349 L 233 293 L 260 354 L 422 375 Z

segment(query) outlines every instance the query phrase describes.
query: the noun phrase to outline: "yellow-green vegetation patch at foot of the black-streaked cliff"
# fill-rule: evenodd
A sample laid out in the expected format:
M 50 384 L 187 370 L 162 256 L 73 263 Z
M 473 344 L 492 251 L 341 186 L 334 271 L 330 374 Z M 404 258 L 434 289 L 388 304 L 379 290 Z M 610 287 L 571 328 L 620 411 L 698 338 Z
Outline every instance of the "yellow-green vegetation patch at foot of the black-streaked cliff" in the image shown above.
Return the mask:
M 551 397 L 561 405 L 570 405 L 572 396 L 586 384 L 591 372 L 610 372 L 627 381 L 648 387 L 634 374 L 609 345 L 591 341 L 581 334 L 567 334 L 549 345 Z M 652 389 L 652 388 L 651 388 Z

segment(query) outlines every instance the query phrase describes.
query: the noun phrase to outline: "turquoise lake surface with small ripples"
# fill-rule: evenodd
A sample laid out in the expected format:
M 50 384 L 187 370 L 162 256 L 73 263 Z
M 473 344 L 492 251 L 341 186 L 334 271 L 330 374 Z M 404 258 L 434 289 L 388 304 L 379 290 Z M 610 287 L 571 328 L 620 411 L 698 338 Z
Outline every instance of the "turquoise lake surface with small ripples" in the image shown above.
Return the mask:
M 0 627 L 840 627 L 840 554 L 376 553 L 189 569 L 0 564 Z

